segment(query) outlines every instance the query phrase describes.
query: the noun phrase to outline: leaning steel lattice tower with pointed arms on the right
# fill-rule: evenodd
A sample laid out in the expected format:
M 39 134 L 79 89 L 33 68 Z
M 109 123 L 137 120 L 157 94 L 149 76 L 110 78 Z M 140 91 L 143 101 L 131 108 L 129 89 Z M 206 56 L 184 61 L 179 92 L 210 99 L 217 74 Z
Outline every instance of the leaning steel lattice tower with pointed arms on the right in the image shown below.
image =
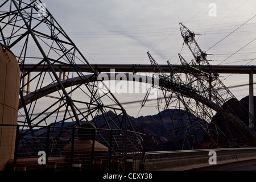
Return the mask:
M 187 147 L 191 149 L 202 143 L 205 143 L 204 147 L 210 147 L 207 146 L 210 143 L 212 147 L 239 147 L 241 144 L 255 146 L 254 129 L 243 123 L 227 102 L 236 101 L 237 105 L 249 115 L 251 121 L 255 120 L 254 117 L 213 71 L 207 60 L 207 53 L 200 49 L 195 40 L 196 34 L 182 23 L 180 23 L 180 30 L 184 44 L 187 44 L 194 57 L 190 63 L 179 54 L 180 69 L 173 69 L 167 61 L 170 66 L 170 75 L 168 75 L 162 71 L 148 52 L 150 62 L 159 78 L 159 85 L 153 86 L 164 90 L 166 101 L 164 108 L 181 109 L 180 114 L 170 112 L 173 126 L 167 131 L 168 134 L 179 138 L 183 146 L 190 144 L 191 146 Z M 210 71 L 204 72 L 201 66 L 209 67 Z M 191 113 L 192 116 L 184 117 L 184 113 Z M 216 113 L 224 118 L 224 123 L 212 122 Z

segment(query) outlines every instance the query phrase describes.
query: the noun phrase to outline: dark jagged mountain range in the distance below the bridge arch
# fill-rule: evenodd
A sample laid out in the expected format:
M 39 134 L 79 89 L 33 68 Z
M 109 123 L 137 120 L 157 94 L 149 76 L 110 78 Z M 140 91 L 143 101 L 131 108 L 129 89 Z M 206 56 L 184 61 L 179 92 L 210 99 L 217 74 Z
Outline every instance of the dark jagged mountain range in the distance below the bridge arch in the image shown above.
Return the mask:
M 241 121 L 248 125 L 249 117 L 248 111 L 246 110 L 248 109 L 249 98 L 247 96 L 242 98 L 240 101 L 244 108 L 241 108 L 241 105 L 238 105 L 238 102 L 239 101 L 235 99 L 231 99 L 222 107 L 225 107 L 228 110 L 232 109 L 240 117 Z M 254 102 L 256 103 L 256 97 L 254 97 Z M 256 113 L 256 108 L 254 113 Z M 112 123 L 110 123 L 110 125 L 113 126 L 112 129 L 118 129 L 118 121 L 122 121 L 123 116 L 117 116 L 115 113 L 113 113 L 113 111 L 108 111 L 106 115 L 108 115 L 109 118 L 112 118 Z M 170 115 L 172 115 L 172 118 Z M 144 140 L 144 142 L 146 142 L 146 151 L 187 150 L 191 149 L 192 144 L 197 144 L 196 141 L 204 141 L 204 138 L 207 138 L 205 131 L 201 127 L 201 125 L 205 125 L 205 122 L 184 110 L 168 109 L 155 115 L 140 116 L 138 118 L 128 115 L 127 117 L 129 118 L 136 132 L 146 135 Z M 232 123 L 226 121 L 225 118 L 220 115 L 220 113 L 214 115 L 212 122 L 216 123 L 221 129 L 225 129 L 225 127 L 228 125 L 233 135 L 237 135 L 236 128 L 232 125 Z M 93 122 L 91 121 L 91 123 Z M 60 124 L 57 124 L 55 126 L 59 125 Z M 73 126 L 73 122 L 65 122 L 64 126 L 71 127 Z M 104 115 L 97 115 L 96 127 L 105 129 L 108 128 L 105 123 Z M 129 122 L 126 122 L 126 129 L 132 130 Z M 39 135 L 45 137 L 46 133 L 47 129 L 40 130 L 40 132 L 35 131 L 35 137 Z M 67 130 L 67 133 L 65 133 L 65 135 L 71 134 L 72 130 Z M 201 147 L 204 148 L 205 146 L 201 145 Z

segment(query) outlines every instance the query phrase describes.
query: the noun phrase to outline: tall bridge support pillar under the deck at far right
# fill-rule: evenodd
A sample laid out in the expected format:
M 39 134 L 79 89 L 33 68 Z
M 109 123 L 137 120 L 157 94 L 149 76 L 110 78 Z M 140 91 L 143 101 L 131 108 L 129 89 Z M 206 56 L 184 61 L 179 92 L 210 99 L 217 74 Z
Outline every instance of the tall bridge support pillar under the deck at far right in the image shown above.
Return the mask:
M 254 115 L 254 94 L 253 94 L 253 71 L 249 75 L 249 112 Z M 254 121 L 249 117 L 249 127 L 254 129 Z

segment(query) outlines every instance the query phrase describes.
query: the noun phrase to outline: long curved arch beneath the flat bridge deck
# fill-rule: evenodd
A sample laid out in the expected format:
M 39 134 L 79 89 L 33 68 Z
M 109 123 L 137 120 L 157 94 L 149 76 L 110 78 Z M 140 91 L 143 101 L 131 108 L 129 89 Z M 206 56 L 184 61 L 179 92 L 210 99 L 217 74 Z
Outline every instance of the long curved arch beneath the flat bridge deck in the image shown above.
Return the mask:
M 118 76 L 122 75 L 122 77 L 126 77 L 127 81 L 135 81 L 135 82 L 142 82 L 146 84 L 151 84 L 154 87 L 157 87 L 159 89 L 165 89 L 167 91 L 172 91 L 172 89 L 175 88 L 167 88 L 166 81 L 158 79 L 158 78 L 152 78 L 151 76 L 144 76 L 144 75 L 133 75 L 131 73 L 101 73 L 101 78 L 104 77 L 105 79 L 108 78 L 108 81 L 115 80 Z M 133 75 L 133 76 L 132 76 Z M 133 80 L 129 80 L 129 76 L 133 77 Z M 68 78 L 67 80 L 62 80 L 61 84 L 65 88 L 68 88 L 69 86 L 72 86 L 73 84 L 84 84 L 84 82 L 96 82 L 101 81 L 101 78 L 98 78 L 98 75 L 92 74 L 92 75 L 85 75 L 82 77 L 74 77 L 74 78 Z M 103 80 L 103 79 L 102 79 Z M 120 81 L 120 80 L 119 80 Z M 23 97 L 23 102 L 25 105 L 30 104 L 31 102 L 38 100 L 44 96 L 47 96 L 48 94 L 51 94 L 53 92 L 56 92 L 59 89 L 59 85 L 56 83 L 47 85 L 39 90 L 36 90 L 35 92 L 32 92 L 30 94 L 27 94 Z M 180 92 L 179 90 L 174 90 L 176 92 Z M 184 92 L 183 95 L 188 98 L 192 98 L 191 93 Z M 247 126 L 245 123 L 241 121 L 236 115 L 230 113 L 229 111 L 226 111 L 222 106 L 216 104 L 215 102 L 209 101 L 208 98 L 205 98 L 204 96 L 201 96 L 198 93 L 193 94 L 193 99 L 197 102 L 200 102 L 201 104 L 210 107 L 210 109 L 213 109 L 216 112 L 225 113 L 226 117 L 232 119 L 232 122 L 234 125 L 245 135 L 247 135 L 248 138 L 251 138 L 253 140 L 253 143 L 256 143 L 256 134 L 255 131 L 250 129 L 249 126 Z M 19 100 L 19 109 L 23 107 L 22 101 Z

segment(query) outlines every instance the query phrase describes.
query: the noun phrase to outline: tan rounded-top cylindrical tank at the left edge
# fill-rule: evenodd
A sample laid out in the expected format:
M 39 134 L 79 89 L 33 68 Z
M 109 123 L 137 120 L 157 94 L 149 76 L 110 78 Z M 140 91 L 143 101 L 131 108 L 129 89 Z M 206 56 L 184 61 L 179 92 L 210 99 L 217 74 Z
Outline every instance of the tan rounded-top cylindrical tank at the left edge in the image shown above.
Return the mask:
M 0 46 L 0 170 L 14 157 L 19 105 L 20 69 L 13 53 Z

